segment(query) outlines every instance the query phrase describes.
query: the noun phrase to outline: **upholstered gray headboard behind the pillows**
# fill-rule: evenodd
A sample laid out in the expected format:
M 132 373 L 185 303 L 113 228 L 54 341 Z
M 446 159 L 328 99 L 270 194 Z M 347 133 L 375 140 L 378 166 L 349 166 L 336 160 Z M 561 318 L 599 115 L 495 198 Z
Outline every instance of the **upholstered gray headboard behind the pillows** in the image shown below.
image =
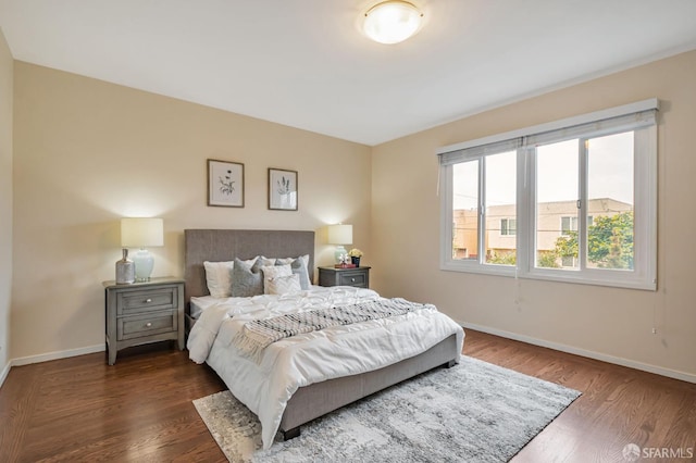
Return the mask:
M 232 261 L 235 258 L 251 259 L 295 258 L 309 254 L 309 278 L 314 274 L 314 232 L 298 230 L 184 230 L 184 298 L 207 296 L 204 261 Z

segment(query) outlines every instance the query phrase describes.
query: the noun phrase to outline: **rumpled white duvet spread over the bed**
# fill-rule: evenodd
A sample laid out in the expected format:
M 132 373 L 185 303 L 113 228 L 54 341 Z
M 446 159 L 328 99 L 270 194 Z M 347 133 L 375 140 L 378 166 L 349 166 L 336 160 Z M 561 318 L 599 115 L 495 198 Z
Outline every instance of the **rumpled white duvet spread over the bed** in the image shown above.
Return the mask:
M 288 312 L 378 299 L 370 289 L 313 287 L 293 295 L 227 298 L 208 306 L 188 337 L 189 356 L 207 362 L 232 393 L 259 416 L 268 449 L 295 391 L 313 383 L 377 370 L 417 355 L 452 334 L 459 352 L 463 330 L 433 305 L 396 317 L 373 320 L 293 336 L 269 346 L 259 360 L 243 356 L 232 339 L 246 322 Z

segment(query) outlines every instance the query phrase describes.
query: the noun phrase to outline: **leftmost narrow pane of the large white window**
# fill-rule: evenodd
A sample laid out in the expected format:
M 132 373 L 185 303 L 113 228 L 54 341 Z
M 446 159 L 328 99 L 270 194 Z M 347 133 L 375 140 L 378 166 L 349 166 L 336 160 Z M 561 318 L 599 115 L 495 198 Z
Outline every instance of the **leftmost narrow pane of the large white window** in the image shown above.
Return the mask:
M 478 259 L 478 161 L 452 166 L 452 259 Z

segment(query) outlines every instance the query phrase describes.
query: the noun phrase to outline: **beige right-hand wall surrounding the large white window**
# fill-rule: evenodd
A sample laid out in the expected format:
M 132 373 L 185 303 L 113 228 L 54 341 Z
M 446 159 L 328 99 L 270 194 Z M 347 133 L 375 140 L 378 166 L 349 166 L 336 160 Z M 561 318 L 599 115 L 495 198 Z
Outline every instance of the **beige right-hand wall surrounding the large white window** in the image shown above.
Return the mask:
M 373 149 L 374 286 L 493 333 L 696 380 L 696 52 L 442 125 Z M 439 270 L 439 147 L 657 97 L 657 292 Z M 688 239 L 688 238 L 686 238 Z M 651 334 L 652 327 L 657 334 Z

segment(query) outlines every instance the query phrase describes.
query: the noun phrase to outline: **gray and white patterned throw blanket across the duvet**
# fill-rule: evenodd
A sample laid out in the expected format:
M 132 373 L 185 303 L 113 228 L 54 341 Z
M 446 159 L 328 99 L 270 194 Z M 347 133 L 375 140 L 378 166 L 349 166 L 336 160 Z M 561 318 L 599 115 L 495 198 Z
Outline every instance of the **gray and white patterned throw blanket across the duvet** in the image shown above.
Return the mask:
M 396 298 L 289 313 L 245 323 L 243 329 L 235 335 L 232 342 L 244 354 L 258 361 L 263 349 L 269 345 L 290 336 L 311 333 L 330 326 L 350 325 L 369 320 L 403 315 L 426 306 L 428 305 Z

